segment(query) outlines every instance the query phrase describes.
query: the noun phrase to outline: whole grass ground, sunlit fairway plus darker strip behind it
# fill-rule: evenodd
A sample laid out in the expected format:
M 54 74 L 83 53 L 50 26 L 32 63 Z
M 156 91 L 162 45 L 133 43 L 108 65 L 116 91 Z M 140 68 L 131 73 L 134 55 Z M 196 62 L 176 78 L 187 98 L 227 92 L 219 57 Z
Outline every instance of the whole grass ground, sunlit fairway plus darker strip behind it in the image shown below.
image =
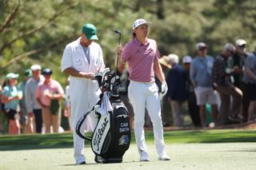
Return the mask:
M 150 162 L 139 162 L 134 136 L 121 164 L 96 164 L 86 141 L 86 164 L 74 164 L 70 133 L 0 136 L 1 170 L 173 170 L 255 169 L 256 130 L 187 130 L 165 132 L 170 161 L 158 160 L 152 132 L 146 132 Z

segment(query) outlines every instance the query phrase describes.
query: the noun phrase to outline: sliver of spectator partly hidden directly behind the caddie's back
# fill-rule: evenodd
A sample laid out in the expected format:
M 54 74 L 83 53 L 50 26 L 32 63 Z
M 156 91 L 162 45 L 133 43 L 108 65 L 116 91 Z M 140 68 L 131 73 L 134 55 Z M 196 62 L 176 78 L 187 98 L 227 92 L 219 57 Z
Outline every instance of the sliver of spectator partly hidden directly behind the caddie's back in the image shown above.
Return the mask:
M 64 104 L 64 117 L 67 117 L 69 122 L 69 128 L 72 130 L 71 126 L 71 103 L 70 103 L 70 77 L 67 78 L 67 85 L 65 87 L 65 104 Z

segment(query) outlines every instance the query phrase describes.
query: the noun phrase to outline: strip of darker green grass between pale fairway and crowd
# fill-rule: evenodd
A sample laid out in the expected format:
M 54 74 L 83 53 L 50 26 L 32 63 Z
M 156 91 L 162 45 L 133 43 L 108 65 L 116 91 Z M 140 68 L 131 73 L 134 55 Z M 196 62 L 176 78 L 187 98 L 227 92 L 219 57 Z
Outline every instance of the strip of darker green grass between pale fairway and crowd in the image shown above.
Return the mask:
M 166 144 L 256 142 L 255 132 L 256 130 L 238 129 L 186 130 L 164 132 L 164 137 Z M 146 142 L 154 144 L 153 132 L 148 131 L 145 135 Z M 131 143 L 134 144 L 133 132 Z M 90 147 L 89 141 L 86 140 L 85 144 Z M 0 136 L 0 151 L 72 147 L 71 133 Z

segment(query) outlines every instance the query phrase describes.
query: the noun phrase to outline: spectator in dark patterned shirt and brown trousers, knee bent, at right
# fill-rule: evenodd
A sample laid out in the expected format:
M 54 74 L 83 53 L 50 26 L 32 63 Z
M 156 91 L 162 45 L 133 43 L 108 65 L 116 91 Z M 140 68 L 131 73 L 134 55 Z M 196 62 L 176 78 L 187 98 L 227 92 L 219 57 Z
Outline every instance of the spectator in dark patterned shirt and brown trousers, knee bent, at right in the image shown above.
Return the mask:
M 234 50 L 234 45 L 226 44 L 222 53 L 214 61 L 212 81 L 222 101 L 218 115 L 219 125 L 228 123 L 229 113 L 238 115 L 241 112 L 242 91 L 231 84 L 230 76 L 233 71 L 227 64 L 227 60 L 234 54 Z M 233 98 L 231 107 L 230 96 Z

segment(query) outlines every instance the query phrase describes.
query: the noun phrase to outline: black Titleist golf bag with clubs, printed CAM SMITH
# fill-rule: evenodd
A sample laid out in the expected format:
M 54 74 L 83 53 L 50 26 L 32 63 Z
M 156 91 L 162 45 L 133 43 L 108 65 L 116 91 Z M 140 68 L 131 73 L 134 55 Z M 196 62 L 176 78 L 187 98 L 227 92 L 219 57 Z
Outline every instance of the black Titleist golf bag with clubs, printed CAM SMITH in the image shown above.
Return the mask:
M 98 85 L 102 90 L 98 104 L 91 110 L 95 110 L 98 115 L 98 124 L 90 137 L 83 136 L 80 132 L 87 115 L 94 113 L 90 111 L 78 121 L 76 132 L 82 139 L 91 141 L 96 162 L 120 163 L 122 162 L 122 156 L 130 146 L 130 117 L 126 106 L 118 96 L 120 80 L 110 71 L 102 73 L 102 75 L 99 74 L 95 79 L 98 80 Z M 101 114 L 98 113 L 98 109 L 102 105 L 103 92 L 106 93 L 105 97 L 109 98 L 113 111 Z

